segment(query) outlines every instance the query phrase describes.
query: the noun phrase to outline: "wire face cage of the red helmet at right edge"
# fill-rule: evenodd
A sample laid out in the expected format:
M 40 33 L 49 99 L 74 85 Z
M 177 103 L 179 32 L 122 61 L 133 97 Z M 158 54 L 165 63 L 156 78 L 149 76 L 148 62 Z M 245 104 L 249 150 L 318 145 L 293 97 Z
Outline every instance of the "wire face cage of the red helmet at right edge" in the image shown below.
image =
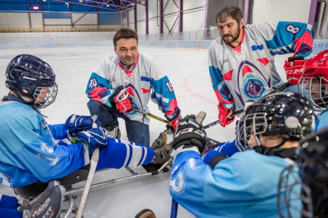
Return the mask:
M 318 81 L 318 84 L 313 84 L 313 81 Z M 312 91 L 313 89 L 316 89 L 316 87 L 319 86 L 318 91 Z M 324 77 L 321 77 L 319 75 L 316 76 L 308 76 L 304 75 L 302 78 L 302 95 L 304 96 L 305 88 L 309 89 L 310 92 L 310 100 L 311 102 L 320 110 L 325 110 L 328 106 L 328 96 L 324 96 L 324 93 L 327 93 L 328 91 L 328 80 Z

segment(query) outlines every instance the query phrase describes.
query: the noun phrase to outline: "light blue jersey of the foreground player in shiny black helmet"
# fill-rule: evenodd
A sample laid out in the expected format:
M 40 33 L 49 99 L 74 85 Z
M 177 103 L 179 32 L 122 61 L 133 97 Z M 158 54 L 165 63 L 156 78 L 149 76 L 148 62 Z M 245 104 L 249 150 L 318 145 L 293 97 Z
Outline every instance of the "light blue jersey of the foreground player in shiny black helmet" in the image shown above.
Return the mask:
M 212 169 L 197 152 L 184 151 L 173 163 L 170 193 L 199 218 L 279 217 L 279 176 L 289 165 L 282 158 L 248 150 L 236 152 Z

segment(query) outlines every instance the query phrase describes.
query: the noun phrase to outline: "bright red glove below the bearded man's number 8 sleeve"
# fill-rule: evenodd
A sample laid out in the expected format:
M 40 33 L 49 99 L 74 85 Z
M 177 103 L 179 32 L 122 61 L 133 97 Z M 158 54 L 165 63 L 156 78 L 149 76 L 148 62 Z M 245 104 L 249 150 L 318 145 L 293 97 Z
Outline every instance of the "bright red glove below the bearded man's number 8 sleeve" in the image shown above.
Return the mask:
M 288 61 L 285 61 L 283 68 L 286 71 L 287 80 L 291 85 L 296 85 L 302 78 L 305 61 L 306 60 L 302 60 L 302 57 L 289 57 Z

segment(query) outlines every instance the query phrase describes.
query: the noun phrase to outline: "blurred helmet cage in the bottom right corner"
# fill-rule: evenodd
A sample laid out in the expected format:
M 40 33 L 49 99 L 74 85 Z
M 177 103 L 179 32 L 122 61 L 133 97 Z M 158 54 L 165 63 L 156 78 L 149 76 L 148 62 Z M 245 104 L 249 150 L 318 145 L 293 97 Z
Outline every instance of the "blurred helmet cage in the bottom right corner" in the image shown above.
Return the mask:
M 296 164 L 280 173 L 277 208 L 281 218 L 313 217 L 311 189 L 302 183 Z

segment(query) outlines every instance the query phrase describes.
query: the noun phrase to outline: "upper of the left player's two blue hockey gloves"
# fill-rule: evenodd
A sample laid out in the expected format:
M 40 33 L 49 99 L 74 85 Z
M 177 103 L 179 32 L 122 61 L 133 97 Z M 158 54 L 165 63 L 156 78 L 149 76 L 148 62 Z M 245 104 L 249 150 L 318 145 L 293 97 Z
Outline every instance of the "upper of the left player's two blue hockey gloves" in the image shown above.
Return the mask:
M 68 130 L 68 133 L 71 137 L 74 137 L 76 133 L 81 130 L 92 128 L 93 120 L 90 116 L 79 116 L 72 114 L 69 116 L 65 122 L 65 128 Z M 95 123 L 100 127 L 100 122 L 96 119 Z

